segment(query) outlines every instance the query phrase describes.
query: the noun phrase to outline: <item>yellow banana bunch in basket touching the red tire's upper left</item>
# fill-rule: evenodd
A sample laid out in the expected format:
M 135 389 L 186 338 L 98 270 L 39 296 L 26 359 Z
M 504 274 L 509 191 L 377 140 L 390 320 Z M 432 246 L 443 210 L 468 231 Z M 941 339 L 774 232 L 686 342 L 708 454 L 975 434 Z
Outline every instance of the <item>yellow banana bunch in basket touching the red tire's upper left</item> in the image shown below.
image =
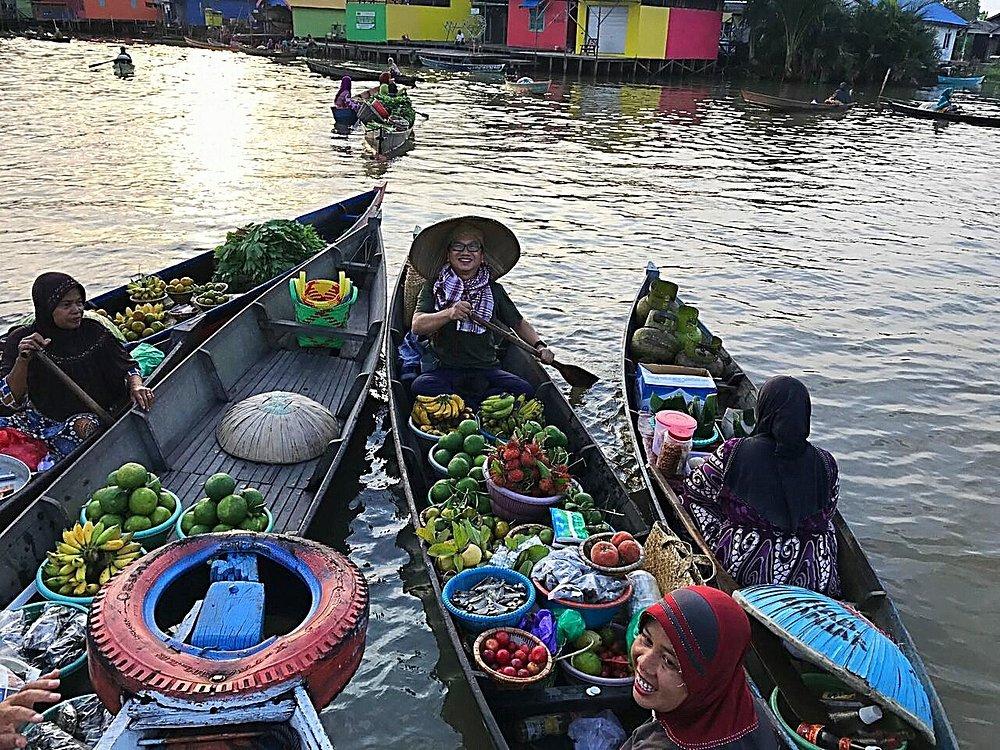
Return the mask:
M 62 596 L 93 596 L 140 555 L 142 548 L 131 534 L 87 521 L 63 532 L 56 551 L 47 553 L 42 580 Z

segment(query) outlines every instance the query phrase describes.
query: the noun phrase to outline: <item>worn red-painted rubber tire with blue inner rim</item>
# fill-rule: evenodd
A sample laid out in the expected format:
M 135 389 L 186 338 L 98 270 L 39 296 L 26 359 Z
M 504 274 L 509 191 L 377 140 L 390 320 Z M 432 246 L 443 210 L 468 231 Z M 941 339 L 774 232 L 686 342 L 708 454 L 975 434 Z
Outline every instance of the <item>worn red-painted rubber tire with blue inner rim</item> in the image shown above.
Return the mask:
M 185 557 L 222 542 L 281 546 L 321 583 L 316 612 L 292 633 L 250 656 L 226 661 L 178 653 L 146 627 L 143 600 L 153 582 Z M 257 693 L 303 678 L 313 704 L 327 705 L 361 663 L 368 630 L 368 586 L 339 552 L 299 537 L 227 532 L 200 534 L 140 558 L 108 582 L 90 611 L 90 678 L 108 710 L 141 691 L 188 700 Z

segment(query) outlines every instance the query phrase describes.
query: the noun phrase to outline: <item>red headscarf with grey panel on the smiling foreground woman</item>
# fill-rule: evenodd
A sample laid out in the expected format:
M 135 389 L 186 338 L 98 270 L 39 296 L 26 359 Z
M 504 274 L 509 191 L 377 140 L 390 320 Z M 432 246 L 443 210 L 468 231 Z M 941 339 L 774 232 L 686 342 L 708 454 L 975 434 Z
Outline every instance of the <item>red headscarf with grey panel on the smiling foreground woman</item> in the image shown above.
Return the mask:
M 757 712 L 743 672 L 750 622 L 726 593 L 708 586 L 677 589 L 648 607 L 673 644 L 688 697 L 656 712 L 682 750 L 709 750 L 757 729 Z

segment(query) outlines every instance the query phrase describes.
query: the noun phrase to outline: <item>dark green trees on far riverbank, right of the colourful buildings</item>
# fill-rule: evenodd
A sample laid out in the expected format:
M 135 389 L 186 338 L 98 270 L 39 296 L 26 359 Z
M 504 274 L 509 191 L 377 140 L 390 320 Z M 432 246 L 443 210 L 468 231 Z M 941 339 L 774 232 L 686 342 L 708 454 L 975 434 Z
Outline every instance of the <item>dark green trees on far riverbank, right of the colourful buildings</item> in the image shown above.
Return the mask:
M 890 67 L 895 79 L 919 75 L 936 63 L 922 7 L 923 0 L 750 0 L 755 65 L 782 79 L 879 80 Z

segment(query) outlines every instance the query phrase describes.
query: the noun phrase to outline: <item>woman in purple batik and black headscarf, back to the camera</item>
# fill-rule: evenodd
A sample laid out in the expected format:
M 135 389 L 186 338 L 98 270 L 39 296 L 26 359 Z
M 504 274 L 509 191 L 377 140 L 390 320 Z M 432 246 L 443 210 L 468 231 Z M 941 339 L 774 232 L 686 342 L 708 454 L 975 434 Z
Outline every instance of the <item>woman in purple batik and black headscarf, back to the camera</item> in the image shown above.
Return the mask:
M 751 437 L 727 440 L 684 482 L 684 506 L 743 586 L 840 593 L 837 462 L 809 442 L 811 410 L 800 381 L 771 378 L 757 396 Z

